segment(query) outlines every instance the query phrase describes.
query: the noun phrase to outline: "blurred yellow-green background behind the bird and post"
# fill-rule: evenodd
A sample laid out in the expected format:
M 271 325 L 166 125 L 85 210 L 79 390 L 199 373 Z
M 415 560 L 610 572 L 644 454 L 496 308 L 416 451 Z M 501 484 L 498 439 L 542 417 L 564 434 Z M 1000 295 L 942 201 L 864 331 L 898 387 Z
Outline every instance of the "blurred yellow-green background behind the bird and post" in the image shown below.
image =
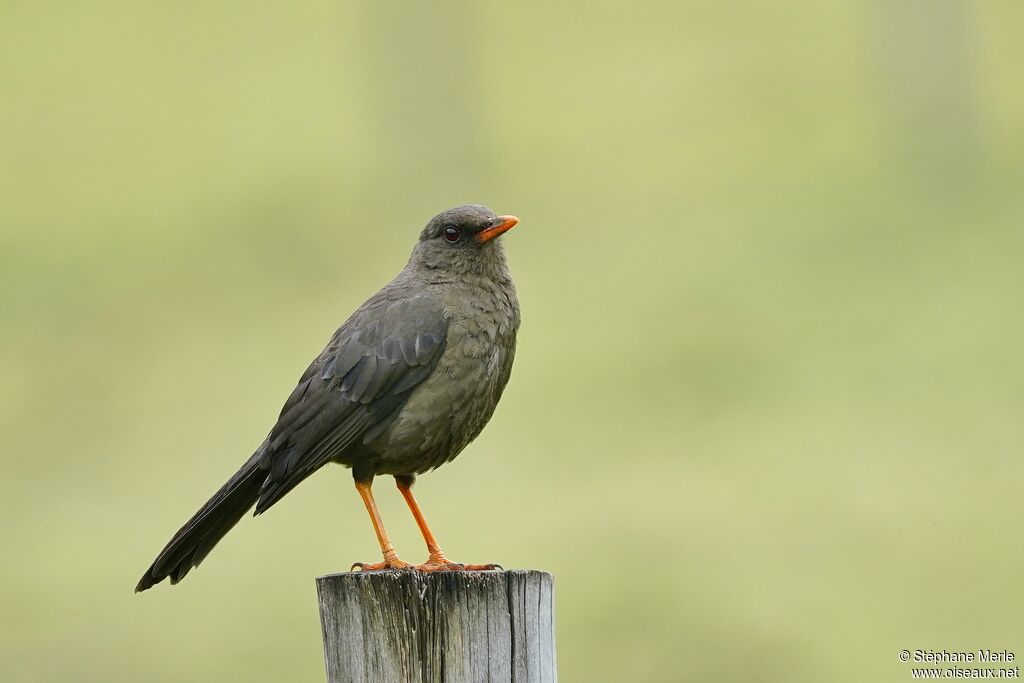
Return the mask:
M 323 680 L 330 468 L 145 566 L 437 211 L 524 310 L 418 494 L 557 580 L 565 681 L 1016 648 L 1024 5 L 0 5 L 0 679 Z M 422 559 L 389 482 L 383 514 Z

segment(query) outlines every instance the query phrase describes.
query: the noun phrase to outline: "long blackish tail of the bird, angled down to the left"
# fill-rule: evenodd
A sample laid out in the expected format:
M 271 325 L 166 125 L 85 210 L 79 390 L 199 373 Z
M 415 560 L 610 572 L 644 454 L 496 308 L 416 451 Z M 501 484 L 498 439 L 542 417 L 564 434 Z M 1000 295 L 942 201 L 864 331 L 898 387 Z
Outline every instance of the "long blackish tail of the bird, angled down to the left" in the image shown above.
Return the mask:
M 260 467 L 264 445 L 185 522 L 139 580 L 135 592 L 144 591 L 170 578 L 181 581 L 224 538 L 242 516 L 256 504 L 267 472 Z

